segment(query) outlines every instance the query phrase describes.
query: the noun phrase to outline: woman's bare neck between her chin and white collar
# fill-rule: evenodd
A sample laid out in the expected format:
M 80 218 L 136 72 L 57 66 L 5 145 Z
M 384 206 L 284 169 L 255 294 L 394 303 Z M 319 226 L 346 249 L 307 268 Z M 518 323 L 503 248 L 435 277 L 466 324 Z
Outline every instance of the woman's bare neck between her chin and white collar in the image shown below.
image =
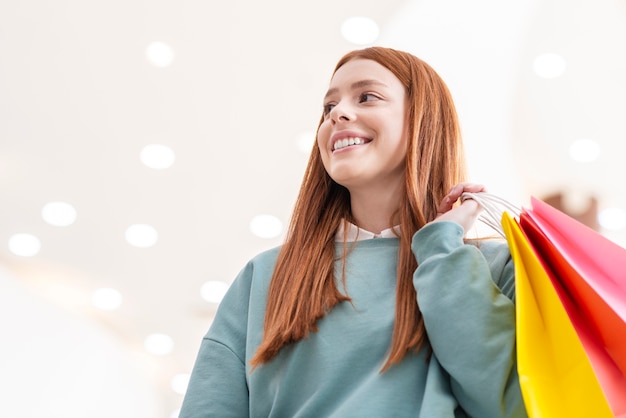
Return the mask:
M 375 234 L 395 226 L 399 221 L 399 196 L 397 189 L 350 190 L 350 206 L 356 225 Z

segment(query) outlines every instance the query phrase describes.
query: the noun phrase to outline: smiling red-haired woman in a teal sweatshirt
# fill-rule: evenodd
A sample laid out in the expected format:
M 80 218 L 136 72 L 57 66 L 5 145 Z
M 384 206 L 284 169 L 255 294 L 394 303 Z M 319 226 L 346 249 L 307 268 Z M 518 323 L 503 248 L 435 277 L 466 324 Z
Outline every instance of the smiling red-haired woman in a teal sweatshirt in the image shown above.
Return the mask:
M 450 93 L 411 54 L 337 64 L 284 245 L 242 270 L 181 417 L 523 417 L 506 245 L 464 240 Z

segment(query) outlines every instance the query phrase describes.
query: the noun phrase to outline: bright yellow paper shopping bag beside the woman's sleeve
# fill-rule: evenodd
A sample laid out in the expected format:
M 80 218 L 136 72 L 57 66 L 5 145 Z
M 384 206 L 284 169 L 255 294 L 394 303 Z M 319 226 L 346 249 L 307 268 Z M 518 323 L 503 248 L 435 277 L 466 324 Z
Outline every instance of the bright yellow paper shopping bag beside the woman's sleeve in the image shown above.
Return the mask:
M 531 418 L 613 417 L 548 273 L 510 214 L 502 229 L 515 265 L 517 367 Z

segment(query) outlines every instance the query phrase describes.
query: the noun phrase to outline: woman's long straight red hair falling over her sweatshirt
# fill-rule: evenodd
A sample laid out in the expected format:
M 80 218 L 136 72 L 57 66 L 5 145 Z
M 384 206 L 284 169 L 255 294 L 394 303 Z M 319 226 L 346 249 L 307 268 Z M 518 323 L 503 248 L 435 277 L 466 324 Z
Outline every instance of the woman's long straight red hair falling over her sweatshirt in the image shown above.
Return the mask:
M 452 97 L 428 64 L 406 52 L 370 47 L 344 55 L 333 74 L 357 58 L 389 69 L 404 85 L 408 98 L 406 193 L 398 209 L 396 315 L 386 370 L 408 352 L 419 351 L 427 340 L 413 286 L 417 261 L 411 239 L 437 216 L 437 207 L 452 186 L 465 179 L 465 164 Z M 285 345 L 317 331 L 320 318 L 350 300 L 338 290 L 334 277 L 335 234 L 343 219 L 352 219 L 350 194 L 326 173 L 316 142 L 270 283 L 263 340 L 251 360 L 253 368 L 273 359 Z

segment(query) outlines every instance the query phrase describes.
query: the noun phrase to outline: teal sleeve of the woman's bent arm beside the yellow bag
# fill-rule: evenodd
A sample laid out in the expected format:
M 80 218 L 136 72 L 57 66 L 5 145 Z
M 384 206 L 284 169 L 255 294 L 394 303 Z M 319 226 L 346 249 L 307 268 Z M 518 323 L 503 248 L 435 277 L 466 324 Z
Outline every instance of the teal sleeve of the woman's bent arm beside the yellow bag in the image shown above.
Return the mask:
M 508 247 L 463 241 L 437 222 L 412 241 L 426 332 L 460 407 L 472 417 L 526 417 L 515 351 L 514 267 Z M 506 294 L 504 293 L 506 292 Z

